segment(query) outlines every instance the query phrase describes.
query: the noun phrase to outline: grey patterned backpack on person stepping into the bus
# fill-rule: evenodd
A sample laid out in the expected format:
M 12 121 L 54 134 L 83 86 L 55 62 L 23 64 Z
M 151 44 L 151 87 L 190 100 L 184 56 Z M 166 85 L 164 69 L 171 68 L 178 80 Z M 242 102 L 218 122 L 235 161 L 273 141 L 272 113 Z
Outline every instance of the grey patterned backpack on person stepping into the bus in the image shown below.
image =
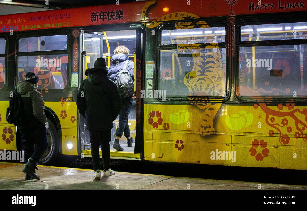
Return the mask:
M 121 98 L 126 98 L 134 93 L 134 82 L 127 70 L 128 63 L 131 60 L 126 60 L 122 70 L 115 77 L 115 84 Z

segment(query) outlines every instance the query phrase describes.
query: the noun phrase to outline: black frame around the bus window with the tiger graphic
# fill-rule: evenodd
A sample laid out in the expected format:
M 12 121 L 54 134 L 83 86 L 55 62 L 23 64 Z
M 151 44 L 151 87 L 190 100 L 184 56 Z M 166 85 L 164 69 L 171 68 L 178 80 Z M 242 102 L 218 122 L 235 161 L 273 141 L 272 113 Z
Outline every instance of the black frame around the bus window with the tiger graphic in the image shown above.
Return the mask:
M 196 19 L 196 20 L 181 20 L 181 21 L 170 21 L 170 22 L 164 22 L 162 24 L 160 24 L 157 27 L 157 39 L 156 39 L 156 46 L 157 46 L 157 50 L 156 50 L 156 66 L 154 68 L 154 76 L 153 79 L 155 80 L 155 82 L 153 82 L 153 89 L 154 90 L 159 90 L 160 88 L 160 51 L 161 50 L 174 50 L 177 49 L 177 44 L 174 45 L 162 45 L 161 44 L 161 34 L 163 30 L 170 30 L 170 29 L 174 29 L 175 28 L 175 24 L 178 22 L 199 22 L 199 21 L 205 21 L 210 28 L 212 27 L 224 27 L 225 28 L 225 42 L 220 42 L 219 43 L 219 48 L 225 48 L 226 49 L 226 67 L 225 67 L 225 96 L 224 97 L 214 97 L 214 96 L 202 96 L 200 98 L 204 99 L 204 100 L 196 100 L 196 97 L 193 96 L 168 96 L 166 98 L 166 100 L 162 100 L 162 98 L 155 98 L 157 101 L 159 102 L 170 102 L 170 103 L 178 103 L 178 102 L 197 102 L 197 103 L 208 103 L 208 102 L 212 102 L 212 103 L 224 103 L 227 102 L 227 100 L 230 98 L 231 96 L 231 67 L 230 67 L 230 50 L 231 50 L 231 39 L 232 39 L 232 28 L 231 28 L 231 23 L 227 20 L 227 18 L 200 18 L 200 19 Z M 193 43 L 193 44 L 197 44 L 197 43 Z

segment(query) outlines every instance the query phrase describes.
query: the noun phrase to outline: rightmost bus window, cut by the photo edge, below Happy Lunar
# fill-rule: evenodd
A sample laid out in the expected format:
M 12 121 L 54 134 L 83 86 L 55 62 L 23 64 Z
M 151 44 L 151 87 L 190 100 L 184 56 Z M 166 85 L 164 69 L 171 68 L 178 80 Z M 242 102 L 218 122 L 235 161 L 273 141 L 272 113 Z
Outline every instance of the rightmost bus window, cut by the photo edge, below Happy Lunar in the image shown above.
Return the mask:
M 291 30 L 303 28 L 302 23 L 272 24 L 257 26 L 242 26 L 242 30 L 255 27 L 258 31 L 256 41 L 267 39 L 281 39 L 284 45 L 244 46 L 239 48 L 239 95 L 242 97 L 268 97 L 270 98 L 293 98 L 307 96 L 307 45 L 287 45 L 286 39 L 293 39 Z M 305 30 L 297 32 L 297 39 L 305 38 Z M 270 31 L 271 30 L 271 31 Z M 289 29 L 290 30 L 290 29 Z M 266 35 L 260 32 L 266 31 Z M 305 32 L 303 32 L 305 31 Z M 283 34 L 281 36 L 281 33 Z M 304 34 L 305 33 L 305 34 Z M 241 35 L 241 40 L 243 39 Z M 244 38 L 245 40 L 246 38 Z M 249 87 L 250 89 L 248 89 Z M 247 92 L 247 90 L 250 90 Z

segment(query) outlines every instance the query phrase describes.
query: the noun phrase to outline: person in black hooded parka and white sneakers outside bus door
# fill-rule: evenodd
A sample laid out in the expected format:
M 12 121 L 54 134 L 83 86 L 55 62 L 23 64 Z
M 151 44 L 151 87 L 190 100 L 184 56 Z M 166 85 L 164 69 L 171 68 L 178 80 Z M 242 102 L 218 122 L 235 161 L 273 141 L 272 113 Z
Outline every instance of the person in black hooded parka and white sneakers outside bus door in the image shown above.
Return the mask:
M 110 144 L 113 121 L 121 108 L 121 97 L 115 83 L 107 77 L 106 62 L 98 58 L 94 68 L 85 71 L 87 79 L 82 82 L 77 107 L 85 118 L 86 129 L 90 133 L 91 156 L 94 179 L 100 180 L 99 144 L 102 148 L 103 176 L 114 175 L 110 168 Z

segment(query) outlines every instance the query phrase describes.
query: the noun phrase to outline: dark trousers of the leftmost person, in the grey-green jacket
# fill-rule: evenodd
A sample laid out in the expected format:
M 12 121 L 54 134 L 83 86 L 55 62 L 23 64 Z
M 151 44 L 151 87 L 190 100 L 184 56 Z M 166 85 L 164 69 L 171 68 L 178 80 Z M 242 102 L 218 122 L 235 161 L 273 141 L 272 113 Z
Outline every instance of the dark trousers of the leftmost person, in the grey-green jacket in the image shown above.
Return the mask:
M 47 142 L 47 131 L 45 125 L 40 125 L 36 130 L 21 133 L 21 144 L 25 151 L 25 163 L 31 157 L 39 162 L 41 156 L 45 153 Z

